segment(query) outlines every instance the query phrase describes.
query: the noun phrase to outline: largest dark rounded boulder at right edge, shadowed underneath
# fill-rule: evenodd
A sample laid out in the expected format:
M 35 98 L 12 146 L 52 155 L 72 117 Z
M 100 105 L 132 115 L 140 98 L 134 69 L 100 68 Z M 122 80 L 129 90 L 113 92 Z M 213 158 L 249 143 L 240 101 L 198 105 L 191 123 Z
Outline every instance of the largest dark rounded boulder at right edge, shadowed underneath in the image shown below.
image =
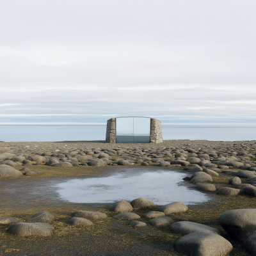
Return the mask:
M 256 230 L 256 209 L 235 209 L 223 212 L 217 223 L 230 237 L 244 241 Z

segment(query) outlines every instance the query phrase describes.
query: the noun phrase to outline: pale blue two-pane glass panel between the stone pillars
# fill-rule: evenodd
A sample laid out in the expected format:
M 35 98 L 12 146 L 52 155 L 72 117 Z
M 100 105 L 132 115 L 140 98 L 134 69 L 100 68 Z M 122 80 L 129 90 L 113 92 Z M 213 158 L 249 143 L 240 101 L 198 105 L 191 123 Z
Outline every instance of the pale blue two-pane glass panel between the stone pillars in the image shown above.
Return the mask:
M 116 117 L 117 143 L 149 143 L 150 117 Z

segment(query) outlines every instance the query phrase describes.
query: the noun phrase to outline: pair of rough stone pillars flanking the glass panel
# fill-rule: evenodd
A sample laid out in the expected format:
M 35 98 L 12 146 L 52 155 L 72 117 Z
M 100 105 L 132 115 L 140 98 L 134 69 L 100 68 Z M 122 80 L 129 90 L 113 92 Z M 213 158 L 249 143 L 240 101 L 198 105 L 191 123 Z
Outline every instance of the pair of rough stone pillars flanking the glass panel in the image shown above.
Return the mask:
M 110 118 L 106 129 L 106 142 L 116 143 L 116 118 Z M 161 121 L 151 118 L 150 122 L 150 143 L 162 143 L 162 125 Z

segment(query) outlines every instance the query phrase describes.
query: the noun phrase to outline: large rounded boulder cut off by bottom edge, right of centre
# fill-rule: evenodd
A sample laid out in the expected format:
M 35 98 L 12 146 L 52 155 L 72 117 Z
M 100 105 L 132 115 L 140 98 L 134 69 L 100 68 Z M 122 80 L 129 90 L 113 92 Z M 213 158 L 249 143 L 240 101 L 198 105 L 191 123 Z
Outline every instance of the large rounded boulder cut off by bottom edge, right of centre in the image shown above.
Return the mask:
M 206 232 L 181 237 L 174 246 L 178 252 L 191 256 L 225 256 L 233 249 L 224 237 Z

